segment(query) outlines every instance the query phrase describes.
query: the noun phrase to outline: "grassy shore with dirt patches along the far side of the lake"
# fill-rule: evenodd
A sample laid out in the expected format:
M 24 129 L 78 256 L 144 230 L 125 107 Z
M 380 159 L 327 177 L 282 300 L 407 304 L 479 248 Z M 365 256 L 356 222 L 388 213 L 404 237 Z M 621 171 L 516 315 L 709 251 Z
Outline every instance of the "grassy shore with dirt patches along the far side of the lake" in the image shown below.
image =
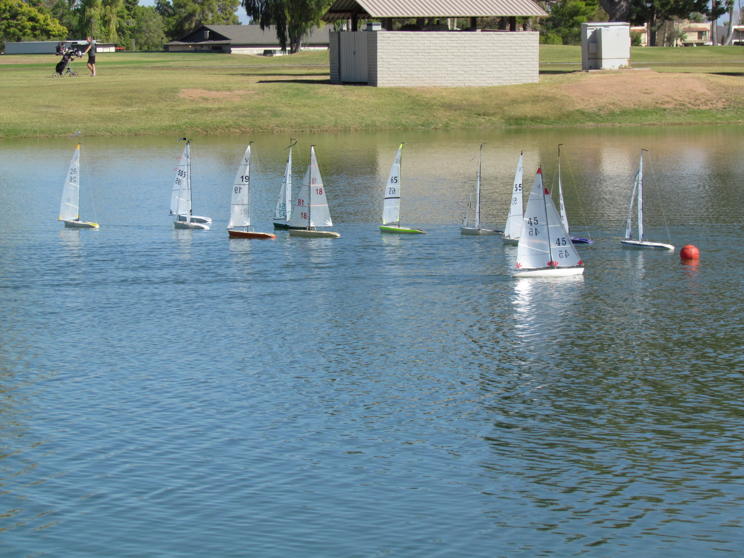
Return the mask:
M 330 85 L 327 52 L 99 54 L 77 78 L 52 78 L 54 56 L 1 56 L 0 137 L 744 122 L 743 48 L 632 57 L 652 69 L 586 74 L 579 47 L 542 45 L 540 83 L 378 89 Z

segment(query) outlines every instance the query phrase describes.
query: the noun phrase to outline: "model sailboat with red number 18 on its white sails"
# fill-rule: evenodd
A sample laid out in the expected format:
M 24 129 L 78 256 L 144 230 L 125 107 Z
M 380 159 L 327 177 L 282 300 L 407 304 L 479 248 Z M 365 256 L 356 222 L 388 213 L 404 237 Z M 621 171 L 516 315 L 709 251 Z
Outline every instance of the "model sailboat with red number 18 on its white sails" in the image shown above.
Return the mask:
M 292 209 L 292 217 L 289 219 L 290 237 L 309 238 L 338 238 L 341 235 L 333 231 L 317 231 L 315 227 L 332 227 L 328 211 L 328 200 L 326 199 L 325 187 L 321 172 L 318 169 L 318 161 L 315 160 L 315 146 L 310 146 L 310 164 L 307 165 L 305 178 L 302 181 L 300 193 Z

